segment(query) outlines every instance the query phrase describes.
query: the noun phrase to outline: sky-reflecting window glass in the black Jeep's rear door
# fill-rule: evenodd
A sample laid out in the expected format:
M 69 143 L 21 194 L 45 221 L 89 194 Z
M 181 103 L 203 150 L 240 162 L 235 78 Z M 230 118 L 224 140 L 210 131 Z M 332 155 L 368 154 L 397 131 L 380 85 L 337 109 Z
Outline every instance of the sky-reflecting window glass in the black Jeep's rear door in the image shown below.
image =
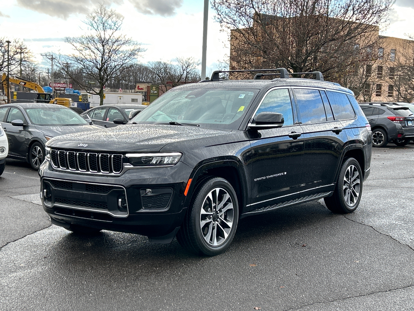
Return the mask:
M 319 90 L 295 89 L 295 94 L 303 124 L 326 121 L 325 108 Z

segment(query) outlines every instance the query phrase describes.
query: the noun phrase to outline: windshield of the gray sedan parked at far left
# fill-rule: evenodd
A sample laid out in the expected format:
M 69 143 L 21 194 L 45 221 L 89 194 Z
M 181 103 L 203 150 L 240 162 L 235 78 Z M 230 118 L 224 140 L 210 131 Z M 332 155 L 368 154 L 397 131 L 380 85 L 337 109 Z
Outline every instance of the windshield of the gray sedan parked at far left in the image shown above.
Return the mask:
M 89 124 L 76 112 L 65 107 L 26 108 L 32 124 L 36 125 L 86 125 Z

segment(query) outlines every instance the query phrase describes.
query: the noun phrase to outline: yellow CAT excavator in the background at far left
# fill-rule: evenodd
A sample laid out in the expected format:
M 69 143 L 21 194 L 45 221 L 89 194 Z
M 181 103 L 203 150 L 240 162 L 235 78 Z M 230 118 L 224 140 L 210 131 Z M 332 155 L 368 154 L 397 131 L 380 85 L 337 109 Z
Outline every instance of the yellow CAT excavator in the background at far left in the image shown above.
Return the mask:
M 36 102 L 43 102 L 43 103 L 49 103 L 49 104 L 58 104 L 65 107 L 70 107 L 72 100 L 70 98 L 55 98 L 53 99 L 53 94 L 46 93 L 45 90 L 43 90 L 43 87 L 41 87 L 36 82 L 32 82 L 23 78 L 10 76 L 9 77 L 10 83 L 14 83 L 17 85 L 22 85 L 24 87 L 28 87 L 29 89 L 35 90 L 37 92 L 37 98 Z M 3 73 L 1 82 L 3 84 L 4 93 L 7 94 L 9 90 L 7 89 L 7 75 Z M 11 97 L 9 97 L 11 98 Z

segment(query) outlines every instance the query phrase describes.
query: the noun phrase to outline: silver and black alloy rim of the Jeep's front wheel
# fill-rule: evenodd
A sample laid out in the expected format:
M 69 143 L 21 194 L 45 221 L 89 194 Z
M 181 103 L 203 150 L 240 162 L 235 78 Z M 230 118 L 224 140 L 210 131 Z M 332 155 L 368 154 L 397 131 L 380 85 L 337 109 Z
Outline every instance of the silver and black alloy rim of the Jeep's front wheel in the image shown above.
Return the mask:
M 200 212 L 200 228 L 205 241 L 219 246 L 230 234 L 233 226 L 233 202 L 223 188 L 214 188 L 204 199 Z

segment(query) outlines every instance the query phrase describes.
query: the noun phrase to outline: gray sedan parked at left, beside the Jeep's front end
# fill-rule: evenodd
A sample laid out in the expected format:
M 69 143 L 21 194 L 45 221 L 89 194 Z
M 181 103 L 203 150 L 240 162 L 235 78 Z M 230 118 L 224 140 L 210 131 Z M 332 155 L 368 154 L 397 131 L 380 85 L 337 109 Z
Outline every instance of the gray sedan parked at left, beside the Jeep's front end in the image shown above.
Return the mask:
M 45 158 L 45 144 L 49 139 L 102 129 L 69 108 L 40 103 L 1 105 L 0 123 L 9 141 L 7 158 L 26 161 L 34 170 L 39 169 Z

